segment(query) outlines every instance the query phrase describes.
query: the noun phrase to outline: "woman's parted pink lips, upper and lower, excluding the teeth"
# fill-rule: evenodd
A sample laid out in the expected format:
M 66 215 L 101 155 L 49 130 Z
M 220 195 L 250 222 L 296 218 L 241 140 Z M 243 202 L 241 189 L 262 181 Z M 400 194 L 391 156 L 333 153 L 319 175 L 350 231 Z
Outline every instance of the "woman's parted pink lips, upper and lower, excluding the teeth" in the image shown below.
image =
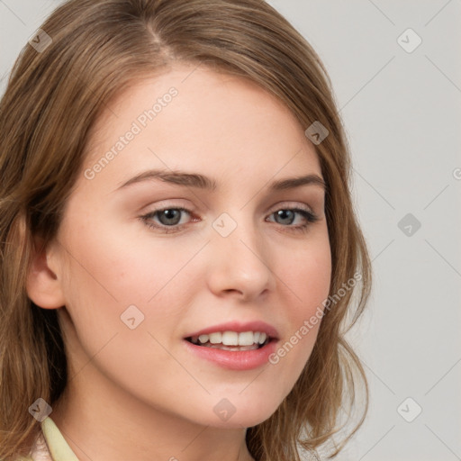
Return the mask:
M 240 351 L 205 348 L 187 340 L 187 338 L 191 338 L 193 336 L 206 335 L 218 331 L 236 331 L 238 333 L 242 333 L 244 331 L 260 331 L 266 333 L 270 340 L 262 348 Z M 243 371 L 267 365 L 269 356 L 276 351 L 278 332 L 273 326 L 269 325 L 265 321 L 249 321 L 246 323 L 241 323 L 240 321 L 230 321 L 219 325 L 213 325 L 212 327 L 207 327 L 203 330 L 194 331 L 193 333 L 185 336 L 183 342 L 185 343 L 187 351 L 194 354 L 195 357 L 203 358 L 204 360 L 210 361 L 222 368 Z

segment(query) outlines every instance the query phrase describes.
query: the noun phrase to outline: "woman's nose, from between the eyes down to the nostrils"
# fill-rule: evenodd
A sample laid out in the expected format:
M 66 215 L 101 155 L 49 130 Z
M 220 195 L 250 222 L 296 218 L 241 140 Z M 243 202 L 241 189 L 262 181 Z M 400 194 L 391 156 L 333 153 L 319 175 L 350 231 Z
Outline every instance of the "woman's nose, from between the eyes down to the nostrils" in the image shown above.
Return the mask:
M 256 296 L 273 287 L 274 275 L 269 267 L 270 248 L 258 226 L 244 209 L 223 212 L 212 222 L 213 291 L 236 290 L 247 297 Z

